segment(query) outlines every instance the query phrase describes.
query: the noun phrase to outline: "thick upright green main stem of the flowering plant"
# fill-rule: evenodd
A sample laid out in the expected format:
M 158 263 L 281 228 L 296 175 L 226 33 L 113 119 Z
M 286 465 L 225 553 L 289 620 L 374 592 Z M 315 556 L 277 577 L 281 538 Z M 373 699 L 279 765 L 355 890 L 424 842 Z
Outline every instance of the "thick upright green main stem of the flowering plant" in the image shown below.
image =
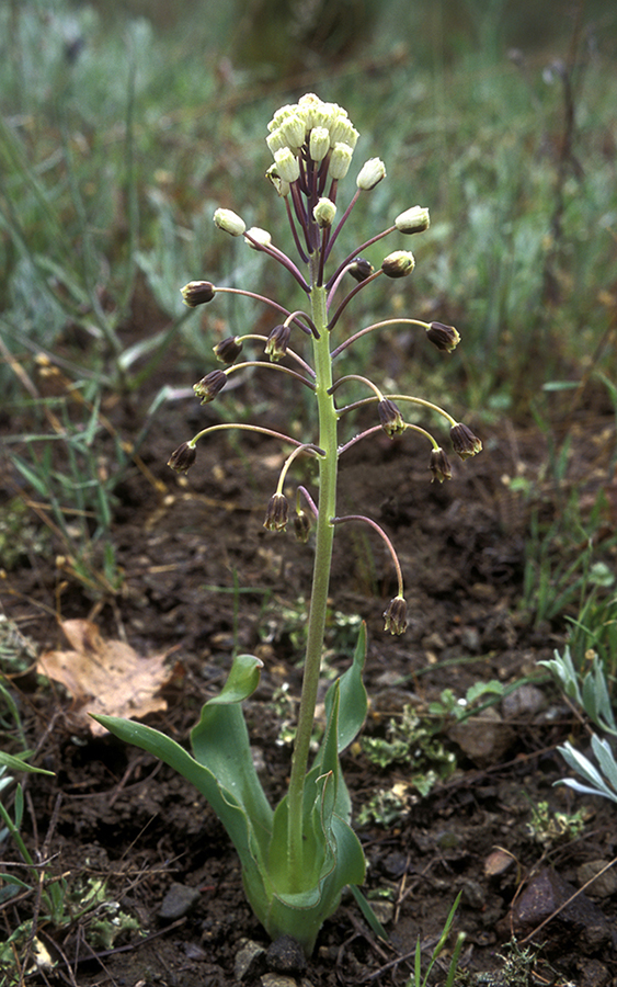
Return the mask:
M 302 801 L 307 775 L 310 739 L 315 722 L 317 690 L 321 671 L 323 632 L 328 608 L 328 588 L 332 561 L 336 513 L 338 438 L 334 399 L 328 392 L 332 386 L 332 361 L 325 288 L 317 284 L 319 253 L 311 257 L 311 317 L 318 330 L 312 340 L 316 383 L 315 393 L 319 417 L 319 445 L 324 455 L 319 460 L 319 515 L 317 519 L 312 590 L 308 617 L 307 650 L 300 708 L 288 793 L 289 880 L 295 883 L 304 871 L 302 862 Z

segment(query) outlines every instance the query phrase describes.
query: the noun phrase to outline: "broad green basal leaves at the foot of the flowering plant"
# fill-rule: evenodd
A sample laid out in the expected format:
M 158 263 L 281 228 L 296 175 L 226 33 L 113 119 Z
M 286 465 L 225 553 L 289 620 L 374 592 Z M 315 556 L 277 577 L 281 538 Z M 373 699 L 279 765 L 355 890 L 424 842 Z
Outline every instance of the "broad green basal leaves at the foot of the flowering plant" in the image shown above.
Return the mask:
M 190 781 L 210 804 L 238 851 L 247 898 L 268 934 L 294 935 L 310 954 L 322 922 L 347 884 L 362 884 L 364 853 L 349 825 L 351 802 L 339 753 L 361 729 L 367 699 L 362 682 L 366 632 L 352 666 L 329 689 L 328 723 L 302 801 L 304 861 L 289 870 L 288 804 L 273 813 L 253 765 L 241 703 L 256 689 L 262 662 L 238 656 L 220 693 L 191 731 L 193 757 L 164 734 L 113 716 L 94 718 L 116 737 L 149 751 Z

